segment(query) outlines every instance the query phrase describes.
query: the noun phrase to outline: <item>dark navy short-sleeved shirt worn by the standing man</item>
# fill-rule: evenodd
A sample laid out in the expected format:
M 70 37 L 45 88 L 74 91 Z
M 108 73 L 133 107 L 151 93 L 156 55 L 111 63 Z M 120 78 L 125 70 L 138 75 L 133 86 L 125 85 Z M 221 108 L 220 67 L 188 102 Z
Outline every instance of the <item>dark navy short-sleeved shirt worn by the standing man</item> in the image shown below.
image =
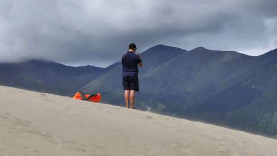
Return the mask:
M 126 54 L 122 56 L 122 76 L 135 76 L 138 75 L 137 64 L 141 63 L 142 60 L 140 57 L 133 53 L 132 51 L 128 51 Z

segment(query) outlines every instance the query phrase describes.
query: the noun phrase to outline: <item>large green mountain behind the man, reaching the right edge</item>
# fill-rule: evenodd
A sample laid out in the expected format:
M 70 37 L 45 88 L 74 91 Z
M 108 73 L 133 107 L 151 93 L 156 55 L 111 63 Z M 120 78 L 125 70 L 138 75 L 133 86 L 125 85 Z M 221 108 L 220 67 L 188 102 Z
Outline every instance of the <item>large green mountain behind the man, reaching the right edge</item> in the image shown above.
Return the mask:
M 277 49 L 260 56 L 157 45 L 140 54 L 136 106 L 248 132 L 277 135 Z M 123 105 L 122 65 L 82 90 Z

